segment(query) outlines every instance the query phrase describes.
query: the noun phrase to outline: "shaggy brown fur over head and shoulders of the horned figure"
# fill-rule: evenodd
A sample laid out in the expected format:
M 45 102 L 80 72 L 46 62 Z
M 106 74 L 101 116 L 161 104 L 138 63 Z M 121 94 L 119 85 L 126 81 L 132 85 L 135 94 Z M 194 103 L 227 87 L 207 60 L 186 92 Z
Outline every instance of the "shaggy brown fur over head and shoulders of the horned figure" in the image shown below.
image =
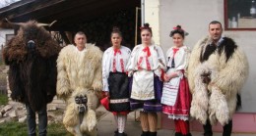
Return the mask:
M 30 53 L 27 44 L 30 40 L 34 42 L 36 55 L 42 58 L 55 56 L 61 49 L 48 31 L 31 21 L 22 25 L 18 34 L 5 46 L 3 56 L 7 65 L 12 61 L 21 62 L 28 58 Z

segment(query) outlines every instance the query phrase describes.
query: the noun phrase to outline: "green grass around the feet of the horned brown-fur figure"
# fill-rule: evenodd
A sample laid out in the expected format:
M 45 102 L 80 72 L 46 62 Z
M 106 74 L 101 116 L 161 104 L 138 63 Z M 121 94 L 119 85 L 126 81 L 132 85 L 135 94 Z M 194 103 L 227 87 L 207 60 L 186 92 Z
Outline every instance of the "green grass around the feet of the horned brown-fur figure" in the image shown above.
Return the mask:
M 5 122 L 0 124 L 0 136 L 28 136 L 27 123 Z M 38 130 L 36 130 L 38 132 Z M 38 135 L 38 134 L 37 134 Z M 72 136 L 62 123 L 48 125 L 47 136 Z

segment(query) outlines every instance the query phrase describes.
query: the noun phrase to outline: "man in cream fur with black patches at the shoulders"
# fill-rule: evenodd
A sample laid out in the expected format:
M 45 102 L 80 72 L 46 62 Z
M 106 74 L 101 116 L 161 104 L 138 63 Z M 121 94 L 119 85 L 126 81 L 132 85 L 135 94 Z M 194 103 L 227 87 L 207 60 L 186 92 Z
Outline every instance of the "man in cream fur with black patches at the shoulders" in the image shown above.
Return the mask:
M 224 126 L 223 135 L 230 136 L 232 114 L 240 105 L 240 90 L 248 75 L 248 62 L 231 38 L 222 37 L 222 23 L 210 23 L 209 33 L 195 45 L 190 56 L 190 114 L 204 124 L 205 136 L 213 135 L 212 125 L 218 121 Z

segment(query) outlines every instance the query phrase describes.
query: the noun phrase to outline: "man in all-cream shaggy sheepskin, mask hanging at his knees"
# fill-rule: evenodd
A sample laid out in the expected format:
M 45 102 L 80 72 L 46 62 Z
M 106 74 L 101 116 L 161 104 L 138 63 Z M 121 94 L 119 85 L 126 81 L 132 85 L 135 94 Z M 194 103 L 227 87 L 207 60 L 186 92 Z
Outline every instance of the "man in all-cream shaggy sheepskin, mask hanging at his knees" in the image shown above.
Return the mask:
M 67 104 L 63 123 L 75 136 L 96 136 L 96 94 L 102 90 L 102 52 L 86 41 L 78 32 L 76 46 L 64 47 L 57 60 L 57 95 Z

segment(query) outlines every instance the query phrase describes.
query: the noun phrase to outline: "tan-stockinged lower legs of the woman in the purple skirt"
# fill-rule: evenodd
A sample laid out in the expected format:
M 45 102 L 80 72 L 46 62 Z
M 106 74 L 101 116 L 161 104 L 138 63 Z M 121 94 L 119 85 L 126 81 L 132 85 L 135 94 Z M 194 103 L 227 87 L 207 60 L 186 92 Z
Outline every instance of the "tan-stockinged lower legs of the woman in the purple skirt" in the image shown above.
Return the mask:
M 142 130 L 147 132 L 157 132 L 158 129 L 158 114 L 157 113 L 140 113 Z

